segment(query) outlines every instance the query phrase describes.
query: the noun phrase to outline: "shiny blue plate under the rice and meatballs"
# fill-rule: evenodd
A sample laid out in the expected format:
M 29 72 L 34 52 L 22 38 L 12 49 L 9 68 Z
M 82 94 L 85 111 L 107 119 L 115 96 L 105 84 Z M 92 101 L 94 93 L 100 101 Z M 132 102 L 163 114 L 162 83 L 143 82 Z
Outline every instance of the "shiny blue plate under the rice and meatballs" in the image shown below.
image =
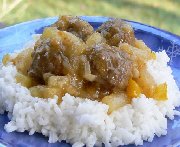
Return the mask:
M 108 17 L 82 16 L 95 29 Z M 5 53 L 20 49 L 31 38 L 32 34 L 42 33 L 43 28 L 49 26 L 57 20 L 57 17 L 45 18 L 17 24 L 0 30 L 0 59 Z M 175 80 L 180 87 L 180 37 L 169 32 L 144 25 L 141 23 L 128 21 L 135 30 L 136 38 L 142 39 L 152 50 L 160 51 L 165 49 L 170 57 L 170 66 L 173 69 Z M 177 108 L 177 110 L 180 108 Z M 0 147 L 1 146 L 48 146 L 48 147 L 70 147 L 65 141 L 61 143 L 49 144 L 48 138 L 35 133 L 32 136 L 28 132 L 7 133 L 4 124 L 7 123 L 7 114 L 0 115 Z M 144 142 L 144 147 L 160 146 L 180 146 L 180 117 L 175 117 L 173 121 L 168 120 L 168 134 L 166 136 L 155 137 L 153 142 Z M 134 145 L 129 145 L 132 147 Z

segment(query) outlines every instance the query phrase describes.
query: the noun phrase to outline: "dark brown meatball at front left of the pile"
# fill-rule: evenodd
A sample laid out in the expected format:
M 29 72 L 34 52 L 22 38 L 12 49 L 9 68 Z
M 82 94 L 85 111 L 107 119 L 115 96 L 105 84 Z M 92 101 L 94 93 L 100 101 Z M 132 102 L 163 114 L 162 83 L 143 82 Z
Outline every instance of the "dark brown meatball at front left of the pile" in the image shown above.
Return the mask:
M 62 75 L 63 54 L 58 49 L 52 49 L 52 40 L 39 40 L 32 54 L 33 61 L 28 74 L 42 81 L 44 73 Z

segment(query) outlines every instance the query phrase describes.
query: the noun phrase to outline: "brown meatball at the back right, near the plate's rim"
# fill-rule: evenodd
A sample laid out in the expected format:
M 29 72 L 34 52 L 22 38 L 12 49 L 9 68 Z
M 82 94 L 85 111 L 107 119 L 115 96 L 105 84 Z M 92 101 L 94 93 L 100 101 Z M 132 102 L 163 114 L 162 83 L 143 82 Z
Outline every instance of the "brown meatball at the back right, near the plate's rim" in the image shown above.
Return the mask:
M 120 43 L 128 43 L 134 46 L 135 36 L 133 28 L 121 19 L 112 19 L 103 23 L 97 32 L 106 39 L 111 46 L 119 46 Z

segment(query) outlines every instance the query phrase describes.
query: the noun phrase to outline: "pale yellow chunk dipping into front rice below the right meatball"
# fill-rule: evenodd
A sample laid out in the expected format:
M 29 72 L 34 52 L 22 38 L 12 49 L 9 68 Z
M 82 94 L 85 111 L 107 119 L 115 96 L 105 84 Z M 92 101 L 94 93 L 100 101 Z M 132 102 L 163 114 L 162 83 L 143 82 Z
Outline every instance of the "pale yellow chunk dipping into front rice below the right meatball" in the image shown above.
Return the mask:
M 109 106 L 108 114 L 111 114 L 113 111 L 128 104 L 128 99 L 124 93 L 111 94 L 111 95 L 105 96 L 102 99 L 102 103 L 105 103 Z

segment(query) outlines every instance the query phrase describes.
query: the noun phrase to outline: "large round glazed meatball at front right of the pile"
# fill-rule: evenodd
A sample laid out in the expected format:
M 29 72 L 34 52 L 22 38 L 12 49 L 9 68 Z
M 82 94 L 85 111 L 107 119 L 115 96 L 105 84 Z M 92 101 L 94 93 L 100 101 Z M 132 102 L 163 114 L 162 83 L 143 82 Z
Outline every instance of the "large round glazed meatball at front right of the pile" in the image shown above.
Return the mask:
M 109 89 L 124 90 L 132 76 L 132 61 L 129 55 L 117 47 L 107 44 L 96 45 L 89 55 L 91 73 L 100 85 Z

